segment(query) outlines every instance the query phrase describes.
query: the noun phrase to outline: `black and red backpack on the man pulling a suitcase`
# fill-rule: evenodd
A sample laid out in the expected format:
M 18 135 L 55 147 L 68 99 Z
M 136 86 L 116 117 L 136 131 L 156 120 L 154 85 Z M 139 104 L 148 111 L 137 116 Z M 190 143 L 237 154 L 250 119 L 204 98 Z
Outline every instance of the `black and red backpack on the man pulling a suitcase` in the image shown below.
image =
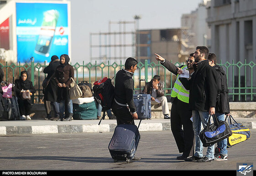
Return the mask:
M 92 87 L 94 92 L 94 100 L 102 106 L 103 116 L 101 120 L 105 119 L 106 111 L 112 108 L 115 91 L 115 87 L 111 82 L 112 79 L 104 77 L 100 80 L 97 80 Z M 100 125 L 101 120 L 98 125 Z

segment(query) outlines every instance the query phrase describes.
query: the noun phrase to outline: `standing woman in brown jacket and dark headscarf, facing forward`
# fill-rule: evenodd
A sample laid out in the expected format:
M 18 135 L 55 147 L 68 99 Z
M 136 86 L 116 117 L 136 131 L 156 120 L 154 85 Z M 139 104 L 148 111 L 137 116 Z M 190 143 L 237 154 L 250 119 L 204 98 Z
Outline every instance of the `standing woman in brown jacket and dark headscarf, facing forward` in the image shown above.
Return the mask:
M 60 65 L 55 71 L 54 79 L 58 85 L 57 101 L 59 102 L 60 118 L 54 118 L 54 121 L 71 121 L 73 116 L 73 104 L 69 98 L 69 85 L 72 82 L 71 77 L 74 79 L 74 68 L 69 65 L 69 60 L 68 55 L 61 55 Z

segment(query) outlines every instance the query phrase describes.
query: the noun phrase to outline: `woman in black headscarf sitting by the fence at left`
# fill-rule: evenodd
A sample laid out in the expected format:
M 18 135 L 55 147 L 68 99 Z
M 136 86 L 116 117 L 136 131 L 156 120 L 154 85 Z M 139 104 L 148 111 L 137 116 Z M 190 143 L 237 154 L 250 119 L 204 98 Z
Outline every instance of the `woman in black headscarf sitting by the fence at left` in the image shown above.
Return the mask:
M 32 105 L 32 100 L 22 100 L 21 99 L 21 91 L 27 91 L 31 94 L 36 93 L 36 90 L 33 86 L 33 83 L 27 79 L 28 72 L 26 70 L 21 71 L 20 79 L 15 80 L 15 90 L 16 90 L 16 96 L 18 98 L 18 105 L 19 105 L 19 111 L 21 115 L 21 120 L 31 120 L 30 117 L 30 110 Z

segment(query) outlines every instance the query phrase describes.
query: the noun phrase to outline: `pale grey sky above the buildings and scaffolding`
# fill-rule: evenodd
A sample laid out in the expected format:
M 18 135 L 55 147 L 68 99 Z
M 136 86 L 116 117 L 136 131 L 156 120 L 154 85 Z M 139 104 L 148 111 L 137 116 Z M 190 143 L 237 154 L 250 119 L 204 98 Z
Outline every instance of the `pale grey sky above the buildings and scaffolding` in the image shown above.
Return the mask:
M 109 21 L 134 21 L 139 29 L 181 27 L 182 14 L 196 10 L 203 0 L 70 0 L 71 60 L 90 62 L 90 33 L 108 32 Z

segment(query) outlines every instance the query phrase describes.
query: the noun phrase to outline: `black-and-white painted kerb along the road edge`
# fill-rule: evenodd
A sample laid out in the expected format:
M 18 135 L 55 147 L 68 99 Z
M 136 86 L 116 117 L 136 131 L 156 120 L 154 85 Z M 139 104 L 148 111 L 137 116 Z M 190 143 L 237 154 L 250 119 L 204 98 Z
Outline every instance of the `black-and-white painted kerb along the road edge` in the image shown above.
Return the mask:
M 154 120 L 142 121 L 139 126 L 139 131 L 170 131 L 171 122 L 153 122 Z M 81 122 L 81 121 L 79 121 Z M 249 129 L 256 128 L 256 120 L 237 120 L 243 123 Z M 105 124 L 104 124 L 105 123 Z M 13 125 L 0 126 L 0 135 L 34 135 L 34 134 L 58 134 L 58 133 L 103 133 L 113 132 L 116 123 L 107 123 L 106 120 L 100 125 L 96 123 L 90 124 L 57 124 L 57 125 Z M 139 121 L 135 121 L 138 126 Z

